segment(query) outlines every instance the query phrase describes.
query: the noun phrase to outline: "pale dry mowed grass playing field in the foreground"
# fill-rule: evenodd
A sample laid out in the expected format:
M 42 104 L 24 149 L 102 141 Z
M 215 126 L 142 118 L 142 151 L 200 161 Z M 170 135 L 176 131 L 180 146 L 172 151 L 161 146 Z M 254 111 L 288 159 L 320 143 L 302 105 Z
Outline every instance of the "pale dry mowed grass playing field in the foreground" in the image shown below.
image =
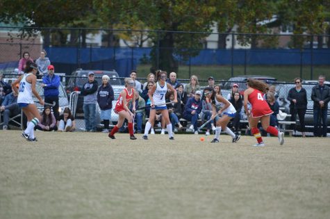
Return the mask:
M 1 131 L 0 218 L 329 218 L 329 138 Z

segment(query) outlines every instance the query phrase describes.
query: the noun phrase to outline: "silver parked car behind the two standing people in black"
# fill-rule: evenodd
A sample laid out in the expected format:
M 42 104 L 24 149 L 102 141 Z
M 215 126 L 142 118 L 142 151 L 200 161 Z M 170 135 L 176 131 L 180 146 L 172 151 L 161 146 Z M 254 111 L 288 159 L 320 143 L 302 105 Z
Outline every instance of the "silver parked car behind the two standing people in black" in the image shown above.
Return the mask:
M 313 126 L 314 118 L 313 118 L 313 100 L 311 99 L 312 88 L 315 84 L 303 84 L 302 87 L 306 89 L 307 92 L 307 109 L 305 115 L 305 125 Z M 294 88 L 293 84 L 280 84 L 277 86 L 277 91 L 279 93 L 279 106 L 283 108 L 285 113 L 290 114 L 290 101 L 288 101 L 288 92 L 291 88 Z M 330 115 L 330 108 L 328 108 L 328 115 Z M 299 121 L 299 117 L 297 116 L 297 120 Z

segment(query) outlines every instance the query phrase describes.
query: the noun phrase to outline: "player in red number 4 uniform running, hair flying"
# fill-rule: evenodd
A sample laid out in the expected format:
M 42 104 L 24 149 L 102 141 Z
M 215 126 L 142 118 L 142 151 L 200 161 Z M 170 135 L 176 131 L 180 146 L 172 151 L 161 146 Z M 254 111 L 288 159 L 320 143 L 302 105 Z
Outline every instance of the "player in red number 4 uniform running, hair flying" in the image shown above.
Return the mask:
M 244 108 L 245 113 L 249 117 L 249 126 L 251 127 L 251 133 L 254 134 L 258 143 L 254 146 L 265 146 L 263 143 L 263 138 L 261 138 L 261 133 L 257 128 L 259 120 L 263 130 L 271 133 L 279 138 L 279 144 L 284 143 L 284 133 L 277 130 L 275 127 L 270 126 L 270 114 L 272 110 L 268 106 L 265 99 L 263 99 L 263 94 L 267 92 L 267 84 L 256 79 L 247 79 L 247 90 L 244 92 Z M 247 109 L 247 102 L 252 105 L 252 111 L 249 113 Z

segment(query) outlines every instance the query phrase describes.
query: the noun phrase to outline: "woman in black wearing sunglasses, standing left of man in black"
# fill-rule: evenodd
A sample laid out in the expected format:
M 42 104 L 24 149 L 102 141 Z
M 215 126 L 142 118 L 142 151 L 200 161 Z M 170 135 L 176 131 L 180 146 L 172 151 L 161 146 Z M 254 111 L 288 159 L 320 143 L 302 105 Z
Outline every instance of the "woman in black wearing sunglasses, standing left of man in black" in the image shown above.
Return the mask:
M 288 92 L 288 100 L 290 101 L 290 120 L 296 121 L 297 114 L 299 117 L 300 131 L 302 136 L 306 137 L 305 133 L 305 114 L 307 109 L 307 92 L 305 88 L 302 88 L 302 79 L 296 78 L 295 88 L 291 88 Z M 297 125 L 292 124 L 292 130 L 297 130 Z

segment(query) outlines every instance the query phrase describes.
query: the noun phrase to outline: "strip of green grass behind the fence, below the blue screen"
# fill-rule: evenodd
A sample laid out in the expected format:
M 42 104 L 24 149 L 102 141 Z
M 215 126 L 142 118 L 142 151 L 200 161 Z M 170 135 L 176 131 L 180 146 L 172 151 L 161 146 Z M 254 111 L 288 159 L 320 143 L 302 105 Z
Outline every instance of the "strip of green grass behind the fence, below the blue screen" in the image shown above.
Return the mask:
M 149 74 L 149 65 L 138 65 L 138 76 L 146 77 Z M 229 65 L 204 65 L 191 66 L 190 75 L 195 74 L 199 79 L 207 80 L 208 76 L 214 76 L 216 80 L 228 80 L 231 78 L 231 66 Z M 233 68 L 233 75 L 238 76 L 245 74 L 245 68 L 242 65 L 236 65 Z M 179 79 L 189 79 L 189 67 L 185 65 L 179 66 L 177 72 Z M 251 65 L 247 66 L 246 74 L 261 74 L 267 76 L 274 76 L 279 81 L 292 81 L 295 77 L 300 76 L 300 66 L 292 65 Z M 327 79 L 330 79 L 330 66 L 314 66 L 313 79 L 318 79 L 318 76 L 323 74 Z M 311 79 L 311 66 L 304 65 L 302 68 L 302 78 L 306 80 Z

